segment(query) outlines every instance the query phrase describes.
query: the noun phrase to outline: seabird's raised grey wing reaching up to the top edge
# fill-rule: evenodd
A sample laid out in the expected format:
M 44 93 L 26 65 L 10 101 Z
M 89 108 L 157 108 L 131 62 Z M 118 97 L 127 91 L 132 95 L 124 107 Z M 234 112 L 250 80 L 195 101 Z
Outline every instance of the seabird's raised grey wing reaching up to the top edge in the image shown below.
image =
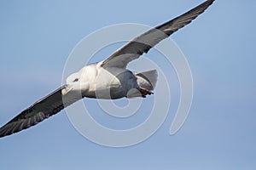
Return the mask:
M 104 60 L 102 66 L 105 68 L 125 68 L 131 60 L 137 59 L 143 53 L 148 53 L 148 50 L 153 48 L 158 42 L 169 37 L 173 32 L 183 26 L 188 25 L 199 14 L 202 14 L 213 2 L 214 0 L 208 0 L 205 3 L 201 3 L 201 5 L 189 10 L 189 12 L 134 38 L 131 42 L 126 43 L 125 46 L 115 51 L 108 59 Z

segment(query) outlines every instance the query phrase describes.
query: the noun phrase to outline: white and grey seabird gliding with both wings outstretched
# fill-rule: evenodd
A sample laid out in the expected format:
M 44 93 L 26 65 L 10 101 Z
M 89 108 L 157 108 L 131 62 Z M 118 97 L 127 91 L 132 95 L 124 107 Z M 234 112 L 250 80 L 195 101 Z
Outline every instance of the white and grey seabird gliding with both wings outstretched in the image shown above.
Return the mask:
M 188 25 L 213 2 L 214 0 L 207 0 L 189 12 L 146 31 L 127 42 L 108 59 L 85 65 L 80 71 L 67 77 L 67 83 L 64 86 L 43 99 L 39 99 L 1 127 L 0 138 L 32 127 L 84 97 L 96 99 L 144 98 L 146 95 L 153 94 L 157 72 L 154 70 L 134 73 L 127 70 L 126 66 L 131 60 L 147 53 L 150 48 L 172 35 L 173 32 Z

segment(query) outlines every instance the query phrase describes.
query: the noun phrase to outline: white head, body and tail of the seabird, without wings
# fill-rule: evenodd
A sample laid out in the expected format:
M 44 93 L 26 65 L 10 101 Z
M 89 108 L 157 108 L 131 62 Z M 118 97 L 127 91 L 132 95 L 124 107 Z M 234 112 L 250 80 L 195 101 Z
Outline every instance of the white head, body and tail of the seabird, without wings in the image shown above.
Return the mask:
M 102 61 L 103 62 L 103 61 Z M 77 91 L 82 98 L 120 99 L 145 97 L 152 94 L 157 80 L 156 71 L 146 71 L 147 77 L 125 68 L 102 67 L 102 62 L 84 66 L 80 71 L 67 77 L 67 85 L 61 90 L 63 95 Z

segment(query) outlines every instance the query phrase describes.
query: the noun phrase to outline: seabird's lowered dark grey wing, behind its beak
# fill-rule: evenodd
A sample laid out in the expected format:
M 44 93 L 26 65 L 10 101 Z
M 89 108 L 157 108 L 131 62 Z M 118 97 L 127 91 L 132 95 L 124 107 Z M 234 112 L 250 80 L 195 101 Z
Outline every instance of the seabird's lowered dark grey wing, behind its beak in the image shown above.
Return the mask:
M 32 127 L 33 125 L 38 124 L 38 122 L 44 121 L 44 119 L 49 116 L 55 115 L 67 105 L 71 105 L 75 101 L 81 99 L 81 97 L 72 93 L 62 96 L 61 90 L 63 88 L 65 88 L 65 86 L 56 89 L 53 93 L 47 95 L 43 99 L 39 99 L 35 104 L 6 123 L 0 128 L 0 138 Z

